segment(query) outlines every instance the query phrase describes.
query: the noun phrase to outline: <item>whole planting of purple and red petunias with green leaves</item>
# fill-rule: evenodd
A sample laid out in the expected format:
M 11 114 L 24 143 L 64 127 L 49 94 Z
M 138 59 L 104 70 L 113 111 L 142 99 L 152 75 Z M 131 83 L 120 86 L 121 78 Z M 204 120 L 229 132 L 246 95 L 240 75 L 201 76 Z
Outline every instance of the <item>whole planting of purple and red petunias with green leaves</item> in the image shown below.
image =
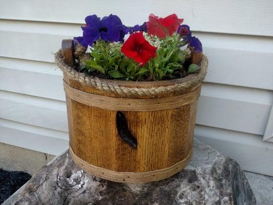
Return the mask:
M 164 18 L 150 14 L 148 22 L 134 27 L 124 26 L 113 14 L 90 15 L 85 21 L 83 35 L 74 37 L 80 72 L 150 81 L 181 78 L 199 70 L 202 44 L 176 14 Z

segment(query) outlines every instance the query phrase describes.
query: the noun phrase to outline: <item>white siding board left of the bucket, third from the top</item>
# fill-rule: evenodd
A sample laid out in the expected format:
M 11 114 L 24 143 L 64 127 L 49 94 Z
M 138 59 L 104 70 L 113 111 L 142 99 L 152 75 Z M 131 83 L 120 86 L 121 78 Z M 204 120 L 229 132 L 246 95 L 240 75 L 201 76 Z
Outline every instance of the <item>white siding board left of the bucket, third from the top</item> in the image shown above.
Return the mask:
M 62 72 L 40 61 L 0 57 L 0 90 L 66 100 Z

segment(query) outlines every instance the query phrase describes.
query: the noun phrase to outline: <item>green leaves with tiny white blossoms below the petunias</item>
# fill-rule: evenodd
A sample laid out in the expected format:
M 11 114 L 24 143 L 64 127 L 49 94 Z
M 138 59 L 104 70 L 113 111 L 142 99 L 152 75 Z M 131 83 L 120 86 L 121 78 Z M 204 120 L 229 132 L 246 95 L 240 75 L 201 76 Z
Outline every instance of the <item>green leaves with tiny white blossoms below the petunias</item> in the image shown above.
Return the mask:
M 144 66 L 139 66 L 132 58 L 121 53 L 121 43 L 109 43 L 98 40 L 91 48 L 91 58 L 85 61 L 82 69 L 89 73 L 100 72 L 111 78 L 124 80 L 162 80 L 176 78 L 184 70 L 185 51 L 179 47 L 181 43 L 177 35 L 158 39 L 155 36 L 145 36 L 157 47 L 156 57 L 150 59 Z M 197 71 L 197 65 L 188 68 L 187 73 Z M 199 68 L 199 67 L 198 67 Z

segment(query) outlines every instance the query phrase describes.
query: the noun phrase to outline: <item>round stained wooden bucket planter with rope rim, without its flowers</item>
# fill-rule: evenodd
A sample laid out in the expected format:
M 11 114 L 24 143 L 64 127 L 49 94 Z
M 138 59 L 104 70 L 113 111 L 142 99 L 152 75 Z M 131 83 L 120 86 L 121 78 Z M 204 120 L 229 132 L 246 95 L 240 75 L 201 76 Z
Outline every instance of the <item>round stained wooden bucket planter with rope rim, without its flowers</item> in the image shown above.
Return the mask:
M 64 72 L 74 162 L 116 182 L 156 181 L 181 171 L 193 152 L 207 58 L 199 73 L 181 79 L 98 79 L 73 69 L 73 45 L 66 45 L 55 60 Z

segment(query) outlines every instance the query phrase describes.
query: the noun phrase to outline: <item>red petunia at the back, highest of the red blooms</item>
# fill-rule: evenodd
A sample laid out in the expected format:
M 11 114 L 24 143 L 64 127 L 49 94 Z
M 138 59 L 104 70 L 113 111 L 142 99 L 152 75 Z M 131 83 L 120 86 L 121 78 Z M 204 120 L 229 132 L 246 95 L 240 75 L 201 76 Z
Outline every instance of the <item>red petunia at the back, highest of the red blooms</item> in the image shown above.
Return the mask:
M 183 18 L 178 18 L 176 14 L 171 14 L 165 18 L 159 18 L 154 14 L 150 14 L 149 22 L 147 22 L 147 30 L 149 35 L 156 35 L 159 38 L 171 36 L 177 31 Z

